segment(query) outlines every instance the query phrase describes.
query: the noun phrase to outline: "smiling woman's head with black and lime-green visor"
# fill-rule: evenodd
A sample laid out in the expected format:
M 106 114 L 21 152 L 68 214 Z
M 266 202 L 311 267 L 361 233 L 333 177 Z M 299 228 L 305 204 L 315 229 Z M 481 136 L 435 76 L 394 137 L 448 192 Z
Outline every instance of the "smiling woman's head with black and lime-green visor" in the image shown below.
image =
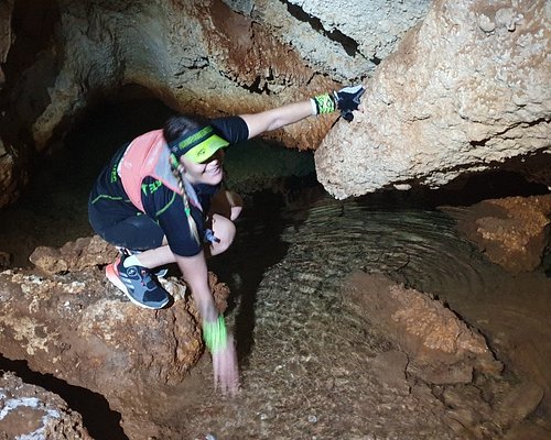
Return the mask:
M 185 116 L 170 118 L 163 129 L 174 165 L 183 165 L 183 175 L 192 184 L 217 185 L 222 182 L 224 152 L 228 142 L 218 136 L 207 121 Z

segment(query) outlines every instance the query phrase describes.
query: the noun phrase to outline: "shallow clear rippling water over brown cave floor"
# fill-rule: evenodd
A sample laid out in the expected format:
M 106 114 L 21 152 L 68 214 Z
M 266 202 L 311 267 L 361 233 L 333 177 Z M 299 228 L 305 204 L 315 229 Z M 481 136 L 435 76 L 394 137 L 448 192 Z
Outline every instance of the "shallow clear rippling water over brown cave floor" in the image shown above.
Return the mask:
M 545 338 L 551 282 L 542 272 L 507 274 L 458 237 L 453 220 L 437 210 L 324 197 L 288 213 L 288 224 L 277 232 L 280 242 L 264 242 L 272 227 L 266 223 L 262 231 L 261 220 L 248 219 L 234 250 L 213 261 L 240 298 L 233 315 L 246 365 L 239 417 L 217 408 L 216 420 L 209 420 L 220 438 L 238 438 L 237 427 L 247 432 L 241 438 L 251 439 L 465 438 L 442 421 L 433 396 L 396 395 L 374 383 L 368 364 L 392 346 L 343 307 L 342 285 L 358 270 L 382 272 L 440 297 L 483 330 L 521 381 L 551 383 Z M 273 252 L 279 256 L 267 266 L 250 266 Z M 543 411 L 538 422 L 547 420 Z

